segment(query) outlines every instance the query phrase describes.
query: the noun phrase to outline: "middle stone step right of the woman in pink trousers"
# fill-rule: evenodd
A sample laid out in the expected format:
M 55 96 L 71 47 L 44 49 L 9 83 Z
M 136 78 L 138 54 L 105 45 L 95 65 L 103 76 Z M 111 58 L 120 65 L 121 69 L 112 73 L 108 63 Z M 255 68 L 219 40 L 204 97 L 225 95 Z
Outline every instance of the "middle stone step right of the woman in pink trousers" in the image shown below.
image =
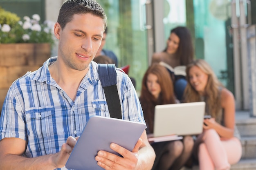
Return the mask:
M 242 159 L 256 159 L 256 136 L 241 137 L 243 147 Z

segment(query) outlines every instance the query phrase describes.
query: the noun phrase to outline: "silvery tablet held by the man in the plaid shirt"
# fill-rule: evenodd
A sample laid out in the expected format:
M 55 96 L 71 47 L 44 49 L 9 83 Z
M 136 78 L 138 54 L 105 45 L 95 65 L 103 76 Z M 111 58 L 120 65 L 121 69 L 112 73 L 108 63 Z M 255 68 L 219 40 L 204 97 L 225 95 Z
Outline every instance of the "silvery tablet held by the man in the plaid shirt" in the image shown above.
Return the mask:
M 97 152 L 105 150 L 119 155 L 110 149 L 111 143 L 132 151 L 145 128 L 145 124 L 135 121 L 101 116 L 90 117 L 67 160 L 66 168 L 103 170 L 95 160 Z

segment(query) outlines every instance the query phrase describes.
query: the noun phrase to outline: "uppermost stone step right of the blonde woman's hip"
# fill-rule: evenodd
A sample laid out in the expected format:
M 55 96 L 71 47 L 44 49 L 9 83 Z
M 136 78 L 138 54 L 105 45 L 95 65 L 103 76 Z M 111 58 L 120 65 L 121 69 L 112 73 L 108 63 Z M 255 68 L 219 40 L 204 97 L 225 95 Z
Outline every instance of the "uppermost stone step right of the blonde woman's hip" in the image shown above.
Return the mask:
M 256 117 L 250 117 L 249 111 L 236 111 L 236 126 L 241 137 L 256 137 Z

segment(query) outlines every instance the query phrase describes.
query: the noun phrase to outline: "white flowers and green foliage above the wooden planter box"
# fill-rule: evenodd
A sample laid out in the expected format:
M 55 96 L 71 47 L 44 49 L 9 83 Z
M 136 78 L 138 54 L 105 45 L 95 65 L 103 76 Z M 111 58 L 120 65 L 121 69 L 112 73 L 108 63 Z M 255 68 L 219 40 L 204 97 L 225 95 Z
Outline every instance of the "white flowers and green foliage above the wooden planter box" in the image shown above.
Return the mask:
M 38 14 L 23 20 L 9 11 L 0 8 L 0 43 L 50 43 L 54 44 L 53 22 L 40 23 Z

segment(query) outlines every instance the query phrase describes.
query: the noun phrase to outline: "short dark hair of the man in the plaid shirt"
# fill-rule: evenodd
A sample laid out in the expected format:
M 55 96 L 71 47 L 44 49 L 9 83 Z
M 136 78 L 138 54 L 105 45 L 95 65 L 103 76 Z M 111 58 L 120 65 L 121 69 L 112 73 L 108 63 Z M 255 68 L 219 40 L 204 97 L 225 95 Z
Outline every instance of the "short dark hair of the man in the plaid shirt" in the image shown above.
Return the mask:
M 73 19 L 74 14 L 91 13 L 103 19 L 105 28 L 107 26 L 107 16 L 101 5 L 95 0 L 66 0 L 58 14 L 57 22 L 64 29 L 66 24 Z

